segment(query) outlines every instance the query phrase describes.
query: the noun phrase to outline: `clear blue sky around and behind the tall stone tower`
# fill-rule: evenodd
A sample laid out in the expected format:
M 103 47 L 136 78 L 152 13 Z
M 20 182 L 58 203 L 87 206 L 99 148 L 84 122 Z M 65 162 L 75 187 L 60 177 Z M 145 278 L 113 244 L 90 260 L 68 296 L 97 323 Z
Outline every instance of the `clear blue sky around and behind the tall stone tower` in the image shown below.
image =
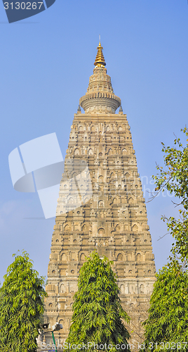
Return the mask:
M 149 184 L 161 142 L 172 145 L 187 123 L 188 6 L 186 0 L 56 0 L 48 10 L 9 24 L 0 2 L 1 199 L 0 281 L 18 249 L 47 275 L 55 220 L 43 217 L 37 194 L 13 189 L 8 154 L 56 132 L 65 157 L 69 132 L 93 73 L 98 35 L 107 73 L 127 114 L 140 176 Z M 146 182 L 148 180 L 148 182 Z M 170 236 L 161 215 L 175 210 L 167 194 L 147 203 L 157 270 L 166 263 Z M 146 194 L 146 198 L 148 198 Z

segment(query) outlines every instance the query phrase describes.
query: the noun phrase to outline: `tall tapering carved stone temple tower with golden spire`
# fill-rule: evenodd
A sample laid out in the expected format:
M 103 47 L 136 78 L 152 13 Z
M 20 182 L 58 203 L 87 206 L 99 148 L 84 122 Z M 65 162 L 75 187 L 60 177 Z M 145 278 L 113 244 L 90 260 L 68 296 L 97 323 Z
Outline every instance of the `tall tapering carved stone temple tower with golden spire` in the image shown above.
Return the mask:
M 94 250 L 113 260 L 132 343 L 142 341 L 155 281 L 152 239 L 130 126 L 99 44 L 87 92 L 74 115 L 48 265 L 44 322 L 69 334 L 79 270 Z M 81 112 L 83 108 L 84 113 Z M 119 113 L 116 113 L 119 108 Z M 53 344 L 51 334 L 44 342 Z

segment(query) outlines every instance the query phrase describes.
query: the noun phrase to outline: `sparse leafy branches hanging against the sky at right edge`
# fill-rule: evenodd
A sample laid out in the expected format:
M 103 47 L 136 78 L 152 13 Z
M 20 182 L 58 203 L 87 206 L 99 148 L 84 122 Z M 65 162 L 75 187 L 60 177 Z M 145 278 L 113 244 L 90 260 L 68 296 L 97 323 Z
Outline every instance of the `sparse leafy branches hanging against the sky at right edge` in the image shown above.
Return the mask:
M 187 127 L 182 130 L 188 136 Z M 188 139 L 187 139 L 188 142 Z M 184 267 L 187 267 L 188 259 L 188 143 L 183 146 L 180 138 L 175 138 L 175 146 L 165 146 L 163 143 L 163 153 L 165 168 L 157 166 L 159 174 L 154 177 L 156 191 L 168 189 L 170 194 L 174 193 L 177 198 L 177 206 L 180 206 L 180 218 L 173 216 L 166 218 L 168 231 L 175 239 L 171 252 L 173 256 L 180 258 Z M 173 258 L 170 258 L 172 260 Z

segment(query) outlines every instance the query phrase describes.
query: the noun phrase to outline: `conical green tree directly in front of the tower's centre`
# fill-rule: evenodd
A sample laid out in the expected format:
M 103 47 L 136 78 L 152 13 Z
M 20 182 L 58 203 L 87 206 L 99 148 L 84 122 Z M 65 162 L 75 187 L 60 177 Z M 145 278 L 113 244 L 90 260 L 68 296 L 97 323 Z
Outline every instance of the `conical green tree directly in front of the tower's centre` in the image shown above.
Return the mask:
M 101 349 L 100 344 L 104 345 L 104 351 L 116 351 L 115 346 L 119 344 L 119 351 L 129 351 L 130 335 L 123 320 L 129 322 L 130 318 L 121 307 L 112 263 L 93 252 L 83 264 L 78 291 L 74 295 L 74 313 L 67 343 L 77 346 L 93 344 L 87 345 L 89 351 Z M 124 350 L 121 345 L 125 345 Z

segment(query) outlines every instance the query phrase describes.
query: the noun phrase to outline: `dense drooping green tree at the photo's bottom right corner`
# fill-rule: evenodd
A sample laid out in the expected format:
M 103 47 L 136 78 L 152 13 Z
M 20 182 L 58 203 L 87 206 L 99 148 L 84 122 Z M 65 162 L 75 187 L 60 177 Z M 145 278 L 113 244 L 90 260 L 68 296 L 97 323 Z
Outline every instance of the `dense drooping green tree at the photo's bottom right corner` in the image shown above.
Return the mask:
M 156 274 L 149 318 L 145 326 L 145 351 L 188 351 L 188 275 L 171 262 Z

